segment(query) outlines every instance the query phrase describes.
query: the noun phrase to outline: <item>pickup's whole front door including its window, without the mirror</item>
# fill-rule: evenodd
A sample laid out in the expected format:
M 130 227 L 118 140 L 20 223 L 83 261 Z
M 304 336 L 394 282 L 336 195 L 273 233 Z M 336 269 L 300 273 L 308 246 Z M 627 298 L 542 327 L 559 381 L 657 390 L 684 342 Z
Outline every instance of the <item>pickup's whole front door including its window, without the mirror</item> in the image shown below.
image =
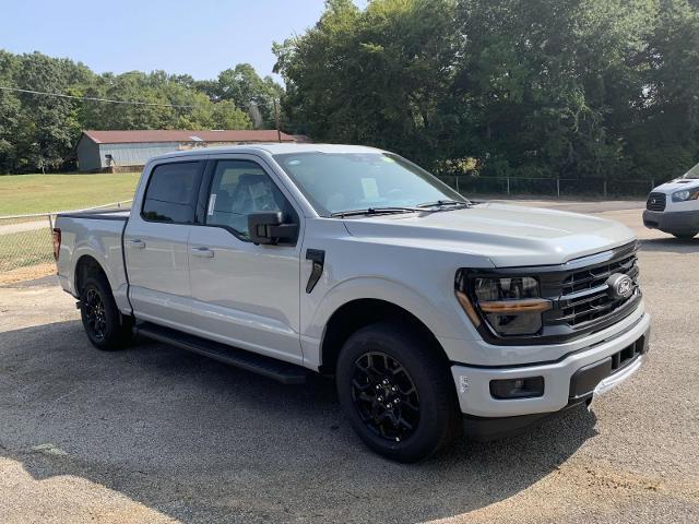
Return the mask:
M 205 225 L 189 237 L 193 327 L 203 336 L 300 364 L 299 245 L 256 246 L 247 216 L 298 215 L 263 168 L 217 160 L 210 171 Z

